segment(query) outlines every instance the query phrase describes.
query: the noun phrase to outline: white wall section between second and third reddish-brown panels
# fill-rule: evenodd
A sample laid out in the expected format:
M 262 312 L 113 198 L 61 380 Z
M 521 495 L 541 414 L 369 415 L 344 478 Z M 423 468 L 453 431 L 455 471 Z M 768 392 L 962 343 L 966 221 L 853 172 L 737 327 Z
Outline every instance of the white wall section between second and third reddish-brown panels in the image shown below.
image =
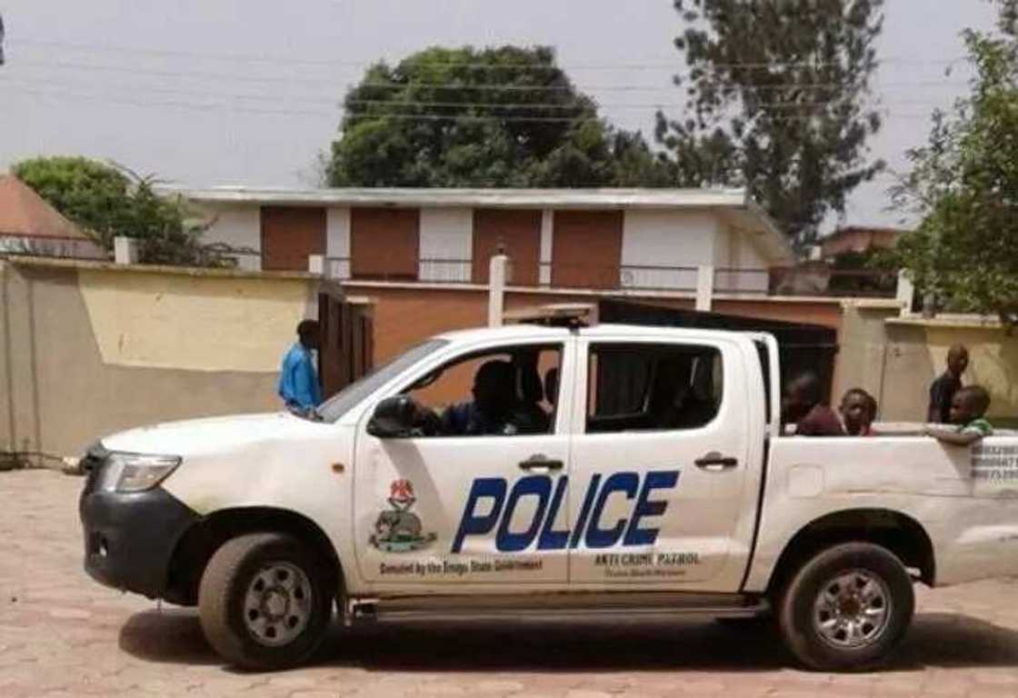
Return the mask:
M 471 209 L 420 210 L 420 281 L 470 281 L 472 254 Z

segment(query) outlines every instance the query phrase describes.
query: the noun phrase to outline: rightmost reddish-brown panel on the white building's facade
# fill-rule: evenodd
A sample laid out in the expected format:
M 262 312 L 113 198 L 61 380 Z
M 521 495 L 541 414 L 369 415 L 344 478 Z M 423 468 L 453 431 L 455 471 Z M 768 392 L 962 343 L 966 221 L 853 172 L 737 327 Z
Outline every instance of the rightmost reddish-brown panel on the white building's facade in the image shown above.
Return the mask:
M 621 211 L 555 212 L 552 286 L 617 288 L 621 264 Z

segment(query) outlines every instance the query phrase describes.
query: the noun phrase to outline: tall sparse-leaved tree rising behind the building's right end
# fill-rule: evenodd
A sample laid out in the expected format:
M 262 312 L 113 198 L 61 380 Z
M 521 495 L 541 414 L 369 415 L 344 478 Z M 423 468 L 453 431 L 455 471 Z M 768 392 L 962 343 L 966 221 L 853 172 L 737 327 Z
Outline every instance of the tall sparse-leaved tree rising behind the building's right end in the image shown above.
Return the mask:
M 745 186 L 799 244 L 883 169 L 866 139 L 883 0 L 674 0 L 687 115 L 656 134 L 686 186 Z

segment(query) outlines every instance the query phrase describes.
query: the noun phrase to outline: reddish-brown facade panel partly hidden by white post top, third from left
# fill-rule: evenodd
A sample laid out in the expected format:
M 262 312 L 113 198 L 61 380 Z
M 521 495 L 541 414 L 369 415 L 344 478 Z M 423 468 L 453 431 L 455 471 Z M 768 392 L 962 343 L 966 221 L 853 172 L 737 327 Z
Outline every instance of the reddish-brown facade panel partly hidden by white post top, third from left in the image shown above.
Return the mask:
M 505 245 L 513 286 L 535 286 L 541 261 L 541 212 L 477 209 L 473 212 L 473 283 L 487 284 L 492 255 Z

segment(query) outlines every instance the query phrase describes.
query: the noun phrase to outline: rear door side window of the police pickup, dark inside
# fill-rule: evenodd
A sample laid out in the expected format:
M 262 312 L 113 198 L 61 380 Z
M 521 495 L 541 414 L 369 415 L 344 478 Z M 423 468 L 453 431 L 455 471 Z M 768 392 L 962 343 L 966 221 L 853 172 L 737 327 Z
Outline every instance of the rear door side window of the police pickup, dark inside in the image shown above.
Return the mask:
M 718 416 L 721 352 L 674 344 L 596 344 L 587 366 L 587 433 L 694 429 Z

